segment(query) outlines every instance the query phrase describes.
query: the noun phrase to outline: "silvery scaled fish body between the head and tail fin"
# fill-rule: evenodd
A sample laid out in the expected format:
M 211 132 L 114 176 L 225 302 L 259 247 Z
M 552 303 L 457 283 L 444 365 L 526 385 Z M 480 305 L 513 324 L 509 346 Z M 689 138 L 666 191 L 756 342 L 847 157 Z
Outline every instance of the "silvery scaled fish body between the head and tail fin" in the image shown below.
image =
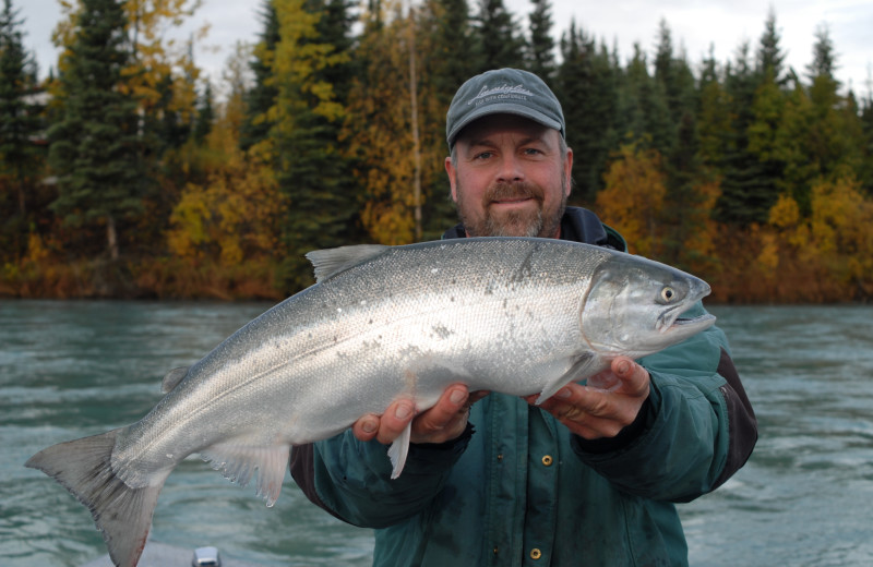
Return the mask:
M 525 372 L 557 348 L 578 349 L 573 327 L 589 279 L 579 275 L 609 255 L 574 257 L 575 246 L 542 254 L 540 242 L 525 240 L 458 242 L 467 245 L 388 250 L 274 307 L 195 364 L 120 439 L 113 462 L 153 462 L 150 470 L 157 470 L 249 431 L 263 443 L 308 443 L 363 412 L 381 412 L 398 395 L 417 394 L 426 408 L 458 378 L 529 394 Z M 453 369 L 466 372 L 452 375 Z M 356 403 L 321 409 L 340 398 Z M 240 400 L 259 401 L 243 402 L 248 412 L 240 412 Z M 300 431 L 283 431 L 282 414 L 297 417 Z M 208 436 L 188 435 L 183 425 L 203 430 L 204 418 L 214 422 Z M 150 430 L 176 434 L 162 438 Z

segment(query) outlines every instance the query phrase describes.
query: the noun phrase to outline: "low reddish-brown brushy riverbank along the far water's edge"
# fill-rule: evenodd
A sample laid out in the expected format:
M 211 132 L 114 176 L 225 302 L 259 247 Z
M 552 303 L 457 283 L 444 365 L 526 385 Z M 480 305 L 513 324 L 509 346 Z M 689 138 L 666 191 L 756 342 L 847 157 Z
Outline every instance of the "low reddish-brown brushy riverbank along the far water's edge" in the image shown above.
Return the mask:
M 794 255 L 767 260 L 742 243 L 736 246 L 725 254 L 730 262 L 718 258 L 690 269 L 713 287 L 707 304 L 815 305 L 873 300 L 873 282 L 848 277 L 836 263 Z M 278 261 L 264 257 L 228 265 L 167 256 L 63 261 L 46 255 L 5 264 L 0 272 L 0 298 L 278 301 L 299 291 L 283 289 L 278 273 Z

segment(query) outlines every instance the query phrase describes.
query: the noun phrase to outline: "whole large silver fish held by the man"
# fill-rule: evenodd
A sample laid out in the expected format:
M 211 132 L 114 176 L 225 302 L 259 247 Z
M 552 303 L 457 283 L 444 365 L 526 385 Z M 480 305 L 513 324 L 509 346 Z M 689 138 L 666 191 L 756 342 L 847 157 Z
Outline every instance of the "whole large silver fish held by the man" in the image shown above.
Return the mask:
M 200 454 L 267 506 L 291 447 L 347 430 L 400 398 L 417 411 L 445 388 L 541 402 L 618 355 L 657 352 L 704 330 L 710 291 L 677 268 L 576 242 L 469 238 L 359 244 L 307 254 L 315 284 L 249 322 L 203 359 L 170 371 L 140 421 L 53 445 L 26 467 L 88 507 L 112 562 L 139 562 L 158 493 Z M 392 478 L 410 429 L 392 444 Z

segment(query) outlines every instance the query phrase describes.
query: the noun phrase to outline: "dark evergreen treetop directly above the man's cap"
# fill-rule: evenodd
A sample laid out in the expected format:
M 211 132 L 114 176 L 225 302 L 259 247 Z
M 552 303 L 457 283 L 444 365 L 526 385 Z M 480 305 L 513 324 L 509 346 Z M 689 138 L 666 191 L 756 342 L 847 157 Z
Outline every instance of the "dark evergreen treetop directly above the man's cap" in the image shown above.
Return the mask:
M 524 67 L 524 38 L 503 0 L 479 0 L 476 21 L 482 64 L 478 72 Z

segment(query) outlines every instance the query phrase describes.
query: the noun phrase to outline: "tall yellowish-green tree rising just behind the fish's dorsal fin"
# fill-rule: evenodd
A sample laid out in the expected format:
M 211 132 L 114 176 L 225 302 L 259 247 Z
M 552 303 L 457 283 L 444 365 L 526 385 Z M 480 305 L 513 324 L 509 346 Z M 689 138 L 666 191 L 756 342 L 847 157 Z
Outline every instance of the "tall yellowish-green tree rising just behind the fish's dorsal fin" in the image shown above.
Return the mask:
M 283 289 L 296 290 L 312 281 L 303 254 L 346 244 L 356 229 L 357 193 L 338 142 L 345 107 L 325 74 L 349 56 L 319 32 L 324 2 L 276 0 L 274 5 L 280 39 L 272 65 L 277 96 L 270 109 L 276 117 L 270 137 L 287 205 L 279 278 Z

